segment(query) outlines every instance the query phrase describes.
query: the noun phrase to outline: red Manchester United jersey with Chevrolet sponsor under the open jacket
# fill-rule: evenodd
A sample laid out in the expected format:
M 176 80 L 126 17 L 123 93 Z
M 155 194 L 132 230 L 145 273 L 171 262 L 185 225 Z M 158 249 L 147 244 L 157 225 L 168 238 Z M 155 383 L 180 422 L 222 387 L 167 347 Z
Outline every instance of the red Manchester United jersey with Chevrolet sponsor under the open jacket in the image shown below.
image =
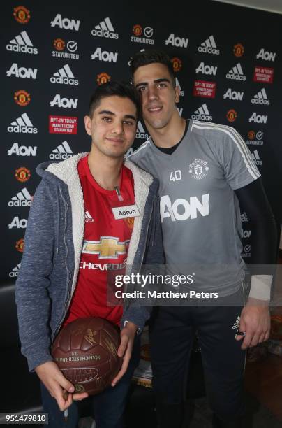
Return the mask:
M 64 324 L 76 318 L 101 317 L 119 324 L 122 306 L 107 306 L 107 272 L 123 269 L 134 218 L 115 220 L 112 208 L 134 204 L 133 176 L 122 166 L 119 201 L 115 190 L 96 183 L 88 166 L 88 156 L 78 166 L 82 185 L 85 224 L 80 272 Z

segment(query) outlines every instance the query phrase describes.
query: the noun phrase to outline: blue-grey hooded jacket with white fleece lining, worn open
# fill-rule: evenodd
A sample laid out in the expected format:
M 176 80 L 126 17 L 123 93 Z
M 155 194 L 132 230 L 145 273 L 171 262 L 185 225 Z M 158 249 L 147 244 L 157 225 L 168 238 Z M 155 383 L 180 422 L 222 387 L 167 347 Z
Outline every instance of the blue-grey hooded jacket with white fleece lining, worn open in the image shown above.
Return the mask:
M 80 265 L 84 236 L 84 200 L 77 163 L 87 153 L 37 168 L 43 178 L 31 204 L 24 255 L 16 283 L 22 353 L 29 369 L 52 360 L 50 347 L 68 311 Z M 158 182 L 126 161 L 134 178 L 135 217 L 127 264 L 163 264 Z M 123 320 L 142 329 L 149 318 L 144 307 L 124 306 Z

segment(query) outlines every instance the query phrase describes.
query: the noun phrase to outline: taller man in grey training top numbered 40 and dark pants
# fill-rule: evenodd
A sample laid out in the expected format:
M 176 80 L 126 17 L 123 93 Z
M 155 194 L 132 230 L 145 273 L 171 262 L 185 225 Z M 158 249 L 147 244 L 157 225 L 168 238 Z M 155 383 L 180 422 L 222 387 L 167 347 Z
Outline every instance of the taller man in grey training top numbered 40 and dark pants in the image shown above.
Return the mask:
M 183 422 L 184 380 L 195 331 L 213 426 L 241 427 L 246 348 L 269 337 L 272 276 L 263 268 L 252 271 L 244 305 L 239 205 L 253 224 L 254 263 L 273 264 L 276 253 L 276 227 L 260 173 L 235 129 L 179 116 L 180 91 L 165 52 L 138 52 L 131 73 L 151 136 L 130 159 L 161 182 L 168 270 L 195 273 L 191 289 L 211 297 L 194 299 L 188 307 L 155 308 L 150 339 L 159 427 L 178 428 Z M 216 294 L 218 299 L 212 299 Z

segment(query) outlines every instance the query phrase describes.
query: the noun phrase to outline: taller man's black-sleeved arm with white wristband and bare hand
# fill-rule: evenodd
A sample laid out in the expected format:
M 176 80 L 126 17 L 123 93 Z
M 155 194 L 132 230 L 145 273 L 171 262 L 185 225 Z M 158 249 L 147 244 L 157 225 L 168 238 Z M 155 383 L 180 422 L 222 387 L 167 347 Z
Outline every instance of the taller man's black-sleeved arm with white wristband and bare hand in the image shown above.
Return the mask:
M 240 319 L 240 331 L 246 336 L 237 336 L 244 341 L 242 349 L 255 346 L 269 338 L 269 300 L 272 284 L 271 265 L 276 263 L 276 222 L 269 206 L 261 178 L 235 190 L 240 208 L 246 211 L 252 224 L 251 290 Z

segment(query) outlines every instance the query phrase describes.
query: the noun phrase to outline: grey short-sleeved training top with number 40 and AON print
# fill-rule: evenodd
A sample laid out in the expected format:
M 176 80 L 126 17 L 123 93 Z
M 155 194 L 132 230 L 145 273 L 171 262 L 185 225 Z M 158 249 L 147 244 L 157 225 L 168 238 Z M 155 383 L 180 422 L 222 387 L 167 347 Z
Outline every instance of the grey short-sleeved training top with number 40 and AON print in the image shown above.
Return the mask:
M 232 127 L 191 120 L 172 155 L 149 138 L 129 159 L 160 180 L 170 273 L 194 273 L 190 290 L 222 297 L 239 290 L 245 265 L 233 190 L 260 176 L 242 136 Z

